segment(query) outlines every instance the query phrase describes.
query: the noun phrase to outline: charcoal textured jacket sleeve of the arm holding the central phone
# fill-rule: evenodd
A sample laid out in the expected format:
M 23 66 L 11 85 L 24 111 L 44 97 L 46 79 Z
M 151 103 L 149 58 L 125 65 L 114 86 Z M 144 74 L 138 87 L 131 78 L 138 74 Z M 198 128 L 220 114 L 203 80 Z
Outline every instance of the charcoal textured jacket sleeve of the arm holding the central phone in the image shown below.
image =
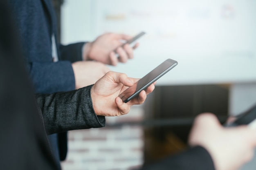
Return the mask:
M 104 127 L 104 116 L 97 116 L 91 99 L 92 85 L 69 92 L 36 95 L 46 133 Z

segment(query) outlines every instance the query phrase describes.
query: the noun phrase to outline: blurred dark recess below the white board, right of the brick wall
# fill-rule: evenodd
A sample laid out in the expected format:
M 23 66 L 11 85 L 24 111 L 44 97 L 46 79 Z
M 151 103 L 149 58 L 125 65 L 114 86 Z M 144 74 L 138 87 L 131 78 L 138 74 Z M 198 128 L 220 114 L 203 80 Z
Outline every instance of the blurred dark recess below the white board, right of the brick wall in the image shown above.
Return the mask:
M 211 112 L 227 119 L 229 85 L 156 86 L 144 104 L 144 165 L 187 148 L 193 119 Z

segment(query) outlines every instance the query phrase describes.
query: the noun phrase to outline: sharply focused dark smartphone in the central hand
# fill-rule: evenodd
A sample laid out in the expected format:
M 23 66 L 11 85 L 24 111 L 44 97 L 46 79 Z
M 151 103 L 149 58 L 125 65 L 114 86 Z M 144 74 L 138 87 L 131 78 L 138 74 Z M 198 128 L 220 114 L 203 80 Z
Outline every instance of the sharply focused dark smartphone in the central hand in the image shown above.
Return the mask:
M 162 77 L 168 71 L 178 64 L 177 61 L 167 59 L 162 64 L 154 68 L 147 75 L 139 79 L 133 86 L 127 88 L 119 97 L 125 102 L 129 102 L 132 98 L 137 96 L 141 91 L 145 90 L 150 84 Z

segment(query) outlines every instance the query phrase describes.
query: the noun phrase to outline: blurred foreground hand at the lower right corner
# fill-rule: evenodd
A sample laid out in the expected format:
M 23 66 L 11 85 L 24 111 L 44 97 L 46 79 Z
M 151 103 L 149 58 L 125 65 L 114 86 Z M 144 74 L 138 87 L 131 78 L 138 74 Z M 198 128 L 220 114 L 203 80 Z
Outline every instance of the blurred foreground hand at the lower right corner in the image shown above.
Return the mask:
M 256 130 L 248 126 L 223 127 L 215 115 L 199 115 L 189 137 L 191 146 L 210 153 L 216 170 L 237 170 L 254 156 Z

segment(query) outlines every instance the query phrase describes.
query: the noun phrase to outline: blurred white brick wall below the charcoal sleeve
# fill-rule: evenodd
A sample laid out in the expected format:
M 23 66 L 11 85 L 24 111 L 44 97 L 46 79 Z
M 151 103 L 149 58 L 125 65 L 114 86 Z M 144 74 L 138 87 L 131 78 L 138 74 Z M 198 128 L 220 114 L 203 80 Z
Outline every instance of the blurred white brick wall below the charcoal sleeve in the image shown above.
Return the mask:
M 107 117 L 107 124 L 143 119 L 141 106 L 128 115 Z M 67 159 L 63 170 L 127 170 L 143 163 L 143 130 L 140 126 L 118 126 L 68 132 Z

